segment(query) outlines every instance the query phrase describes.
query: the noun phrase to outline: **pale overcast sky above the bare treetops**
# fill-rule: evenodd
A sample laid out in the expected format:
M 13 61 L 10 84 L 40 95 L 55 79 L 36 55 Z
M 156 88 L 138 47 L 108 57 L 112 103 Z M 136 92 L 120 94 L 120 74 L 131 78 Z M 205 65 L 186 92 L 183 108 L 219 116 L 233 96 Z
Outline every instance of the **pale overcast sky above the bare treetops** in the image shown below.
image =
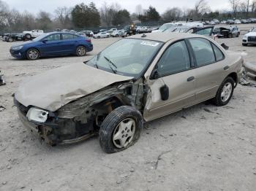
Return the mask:
M 32 13 L 37 13 L 40 10 L 46 11 L 46 12 L 51 12 L 53 13 L 53 10 L 56 9 L 57 7 L 73 7 L 75 4 L 79 4 L 82 2 L 85 2 L 86 4 L 89 3 L 90 1 L 93 0 L 87 0 L 87 1 L 82 1 L 82 0 L 3 0 L 5 1 L 10 8 L 15 8 L 18 9 L 19 11 L 23 12 L 24 10 L 27 10 Z M 97 5 L 97 7 L 101 7 L 103 2 L 106 0 L 94 0 L 93 2 Z M 138 4 L 141 4 L 143 6 L 143 9 L 147 9 L 149 5 L 152 5 L 153 7 L 157 8 L 157 11 L 162 13 L 165 12 L 165 10 L 168 7 L 193 7 L 195 2 L 197 0 L 175 0 L 175 1 L 170 1 L 170 0 L 108 0 L 108 4 L 112 2 L 117 2 L 118 4 L 121 5 L 122 8 L 128 9 L 129 12 L 135 12 L 135 7 Z M 230 6 L 228 4 L 227 0 L 208 0 L 208 4 L 211 7 L 212 10 L 222 10 L 222 9 L 230 9 Z

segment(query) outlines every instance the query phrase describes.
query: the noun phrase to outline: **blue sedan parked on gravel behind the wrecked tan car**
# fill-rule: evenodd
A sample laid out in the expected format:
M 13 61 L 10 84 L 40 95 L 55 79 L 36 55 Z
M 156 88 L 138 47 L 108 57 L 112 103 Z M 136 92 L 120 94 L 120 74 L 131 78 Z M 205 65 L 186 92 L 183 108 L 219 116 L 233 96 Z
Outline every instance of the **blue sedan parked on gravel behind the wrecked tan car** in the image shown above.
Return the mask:
M 77 34 L 53 32 L 43 34 L 29 42 L 12 46 L 10 53 L 15 58 L 37 60 L 40 57 L 58 55 L 84 56 L 93 50 L 91 39 Z

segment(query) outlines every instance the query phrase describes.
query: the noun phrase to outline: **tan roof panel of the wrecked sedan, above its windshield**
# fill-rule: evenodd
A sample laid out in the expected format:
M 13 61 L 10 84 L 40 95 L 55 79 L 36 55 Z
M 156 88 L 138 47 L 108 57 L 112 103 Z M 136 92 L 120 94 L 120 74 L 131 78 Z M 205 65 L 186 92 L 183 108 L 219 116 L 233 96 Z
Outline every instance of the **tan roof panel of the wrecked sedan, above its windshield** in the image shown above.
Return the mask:
M 186 39 L 189 37 L 204 37 L 198 34 L 187 34 L 187 33 L 148 33 L 148 34 L 137 34 L 134 36 L 129 36 L 127 39 L 146 39 L 146 40 L 153 40 L 159 42 L 168 42 L 172 39 Z

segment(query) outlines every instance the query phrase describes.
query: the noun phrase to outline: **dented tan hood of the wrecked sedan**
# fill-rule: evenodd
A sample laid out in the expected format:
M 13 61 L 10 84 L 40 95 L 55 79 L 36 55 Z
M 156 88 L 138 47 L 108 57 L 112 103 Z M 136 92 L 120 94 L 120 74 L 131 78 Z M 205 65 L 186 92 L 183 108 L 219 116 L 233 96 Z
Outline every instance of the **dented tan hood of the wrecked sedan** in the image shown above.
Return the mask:
M 18 87 L 15 98 L 23 106 L 37 106 L 55 112 L 70 101 L 129 79 L 132 77 L 75 63 L 26 79 Z

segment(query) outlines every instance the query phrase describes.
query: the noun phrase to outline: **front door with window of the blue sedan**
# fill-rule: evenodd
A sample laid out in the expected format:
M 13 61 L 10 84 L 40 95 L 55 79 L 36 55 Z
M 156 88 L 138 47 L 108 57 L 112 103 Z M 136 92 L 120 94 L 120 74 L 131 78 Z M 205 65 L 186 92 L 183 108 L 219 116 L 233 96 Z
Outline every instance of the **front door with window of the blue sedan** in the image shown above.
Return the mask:
M 61 54 L 61 34 L 50 34 L 42 39 L 39 45 L 41 55 L 59 55 Z

